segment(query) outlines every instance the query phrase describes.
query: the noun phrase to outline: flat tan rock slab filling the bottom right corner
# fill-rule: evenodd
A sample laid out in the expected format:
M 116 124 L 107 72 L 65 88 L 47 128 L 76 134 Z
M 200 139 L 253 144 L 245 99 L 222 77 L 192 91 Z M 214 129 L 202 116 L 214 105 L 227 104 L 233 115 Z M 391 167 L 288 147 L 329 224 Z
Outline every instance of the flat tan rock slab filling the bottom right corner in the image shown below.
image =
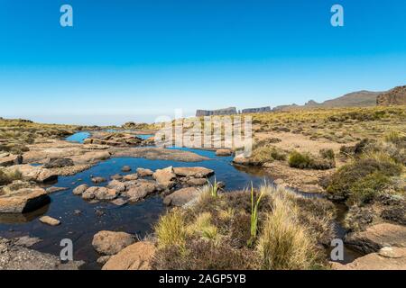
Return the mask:
M 335 270 L 406 270 L 406 248 L 385 247 L 378 253 L 371 253 L 341 265 L 332 264 Z

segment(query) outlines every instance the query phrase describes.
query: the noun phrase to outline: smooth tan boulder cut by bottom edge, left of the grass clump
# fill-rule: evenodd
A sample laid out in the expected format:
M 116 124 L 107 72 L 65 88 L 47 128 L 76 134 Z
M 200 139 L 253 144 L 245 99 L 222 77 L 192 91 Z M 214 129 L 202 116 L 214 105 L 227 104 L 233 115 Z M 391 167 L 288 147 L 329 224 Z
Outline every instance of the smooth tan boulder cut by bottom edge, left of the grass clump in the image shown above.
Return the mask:
M 102 270 L 150 270 L 154 254 L 155 246 L 151 242 L 137 242 L 111 257 Z

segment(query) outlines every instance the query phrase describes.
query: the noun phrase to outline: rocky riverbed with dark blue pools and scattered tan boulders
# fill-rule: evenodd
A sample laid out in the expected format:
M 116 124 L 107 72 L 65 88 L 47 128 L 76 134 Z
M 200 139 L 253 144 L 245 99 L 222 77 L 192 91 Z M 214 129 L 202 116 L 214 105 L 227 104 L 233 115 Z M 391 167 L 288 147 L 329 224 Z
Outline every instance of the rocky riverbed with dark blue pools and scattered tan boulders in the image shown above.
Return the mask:
M 153 223 L 171 206 L 196 198 L 208 180 L 216 177 L 221 189 L 234 191 L 271 182 L 272 175 L 275 184 L 312 197 L 323 192 L 319 183 L 334 171 L 292 169 L 279 162 L 250 166 L 229 149 L 155 148 L 151 135 L 133 135 L 134 141 L 130 136 L 80 132 L 71 141 L 36 139 L 21 157 L 2 156 L 13 161 L 3 161 L 1 170 L 21 179 L 0 193 L 0 268 L 148 269 L 155 249 L 148 238 Z M 404 226 L 383 223 L 348 235 L 340 229 L 348 247 L 360 254 L 346 250 L 346 261 L 333 268 L 371 267 L 371 259 L 381 258 L 383 266 L 377 267 L 404 267 L 403 251 L 387 248 L 405 246 Z M 27 247 L 19 240 L 27 237 L 41 240 Z M 78 262 L 60 263 L 62 238 L 72 239 Z M 362 254 L 368 256 L 346 264 Z M 18 255 L 29 264 L 12 263 Z

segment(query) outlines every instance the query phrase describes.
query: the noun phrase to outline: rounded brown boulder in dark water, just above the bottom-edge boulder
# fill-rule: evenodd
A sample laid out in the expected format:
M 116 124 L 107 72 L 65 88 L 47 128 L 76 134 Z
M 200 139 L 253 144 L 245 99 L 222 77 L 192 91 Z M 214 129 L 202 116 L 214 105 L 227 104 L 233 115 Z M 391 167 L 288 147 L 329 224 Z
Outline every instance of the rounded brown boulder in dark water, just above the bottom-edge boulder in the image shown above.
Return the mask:
M 93 237 L 92 245 L 99 254 L 115 255 L 134 242 L 131 234 L 103 230 Z

